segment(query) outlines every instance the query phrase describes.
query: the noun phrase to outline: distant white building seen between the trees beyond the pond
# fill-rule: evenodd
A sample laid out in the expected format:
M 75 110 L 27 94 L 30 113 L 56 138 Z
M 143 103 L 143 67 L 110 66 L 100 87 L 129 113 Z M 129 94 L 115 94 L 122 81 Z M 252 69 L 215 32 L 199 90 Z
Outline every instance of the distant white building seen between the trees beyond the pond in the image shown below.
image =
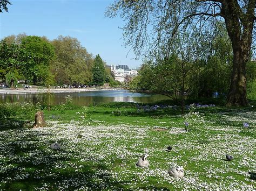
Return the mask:
M 129 69 L 127 65 L 111 65 L 111 72 L 114 74 L 114 80 L 124 82 L 125 76 L 134 77 L 137 76 L 138 71 L 136 69 Z

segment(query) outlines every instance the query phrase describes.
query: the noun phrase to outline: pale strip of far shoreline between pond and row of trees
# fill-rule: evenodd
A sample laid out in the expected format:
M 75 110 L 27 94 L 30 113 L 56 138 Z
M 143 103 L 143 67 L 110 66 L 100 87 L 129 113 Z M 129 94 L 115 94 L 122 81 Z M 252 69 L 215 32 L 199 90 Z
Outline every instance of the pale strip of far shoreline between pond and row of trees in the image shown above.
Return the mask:
M 72 93 L 72 92 L 83 92 L 83 91 L 122 91 L 125 89 L 118 88 L 58 88 L 50 89 L 50 93 Z M 0 89 L 0 94 L 38 94 L 38 93 L 49 93 L 49 89 Z

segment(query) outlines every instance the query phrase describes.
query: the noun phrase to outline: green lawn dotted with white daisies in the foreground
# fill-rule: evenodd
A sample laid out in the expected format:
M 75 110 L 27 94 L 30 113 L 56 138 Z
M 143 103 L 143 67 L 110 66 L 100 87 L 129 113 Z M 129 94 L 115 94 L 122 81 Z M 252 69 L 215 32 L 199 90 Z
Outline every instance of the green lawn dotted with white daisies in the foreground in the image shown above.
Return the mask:
M 255 190 L 255 111 L 194 107 L 181 116 L 175 107 L 109 104 L 44 110 L 48 126 L 38 129 L 14 116 L 0 130 L 0 189 Z M 55 142 L 60 150 L 50 148 Z M 143 153 L 149 168 L 136 166 Z M 184 178 L 167 173 L 173 166 Z

